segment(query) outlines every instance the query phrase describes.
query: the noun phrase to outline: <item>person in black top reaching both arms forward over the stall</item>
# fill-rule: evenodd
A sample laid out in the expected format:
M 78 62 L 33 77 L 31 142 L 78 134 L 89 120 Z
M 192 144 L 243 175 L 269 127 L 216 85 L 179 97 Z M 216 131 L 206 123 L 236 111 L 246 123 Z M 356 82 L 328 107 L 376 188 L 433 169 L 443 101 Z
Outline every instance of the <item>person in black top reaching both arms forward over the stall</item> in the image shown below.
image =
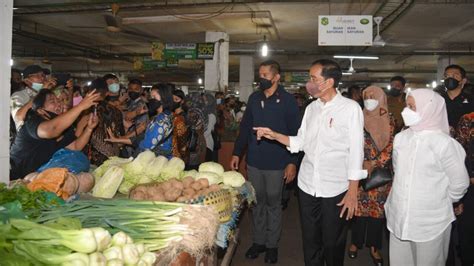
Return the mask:
M 82 150 L 97 126 L 97 117 L 91 114 L 73 124 L 79 115 L 99 100 L 95 91 L 71 110 L 61 113 L 61 103 L 54 93 L 43 89 L 33 99 L 31 110 L 10 149 L 10 178 L 23 178 L 48 162 L 62 149 Z

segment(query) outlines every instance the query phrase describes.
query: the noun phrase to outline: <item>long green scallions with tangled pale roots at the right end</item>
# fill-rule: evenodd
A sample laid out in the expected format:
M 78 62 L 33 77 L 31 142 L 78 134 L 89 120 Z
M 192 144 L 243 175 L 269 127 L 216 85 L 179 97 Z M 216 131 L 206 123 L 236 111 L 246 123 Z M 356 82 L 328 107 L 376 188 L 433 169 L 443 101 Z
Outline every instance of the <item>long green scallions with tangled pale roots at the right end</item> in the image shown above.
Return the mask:
M 84 227 L 101 227 L 112 234 L 123 231 L 147 250 L 173 250 L 173 255 L 204 254 L 212 248 L 219 226 L 211 206 L 128 199 L 78 200 L 44 211 L 37 221 L 59 217 L 78 218 Z

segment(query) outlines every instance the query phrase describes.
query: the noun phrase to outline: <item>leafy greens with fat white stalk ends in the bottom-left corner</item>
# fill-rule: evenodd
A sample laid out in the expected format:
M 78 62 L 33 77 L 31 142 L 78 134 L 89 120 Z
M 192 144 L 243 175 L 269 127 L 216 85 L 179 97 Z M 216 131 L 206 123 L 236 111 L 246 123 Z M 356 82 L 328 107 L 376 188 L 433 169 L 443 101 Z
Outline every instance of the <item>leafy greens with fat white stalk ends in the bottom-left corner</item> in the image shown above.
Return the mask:
M 123 232 L 113 237 L 100 227 L 57 229 L 26 219 L 0 225 L 0 265 L 143 265 L 156 255 Z

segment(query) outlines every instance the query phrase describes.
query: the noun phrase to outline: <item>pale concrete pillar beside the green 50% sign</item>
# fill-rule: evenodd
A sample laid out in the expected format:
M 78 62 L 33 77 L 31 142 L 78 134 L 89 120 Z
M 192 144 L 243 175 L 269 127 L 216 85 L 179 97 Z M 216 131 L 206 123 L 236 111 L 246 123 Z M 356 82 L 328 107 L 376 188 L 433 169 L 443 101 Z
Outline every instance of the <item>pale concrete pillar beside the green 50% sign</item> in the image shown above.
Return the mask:
M 206 42 L 215 42 L 213 60 L 204 64 L 204 88 L 224 91 L 229 84 L 229 35 L 225 32 L 206 32 Z

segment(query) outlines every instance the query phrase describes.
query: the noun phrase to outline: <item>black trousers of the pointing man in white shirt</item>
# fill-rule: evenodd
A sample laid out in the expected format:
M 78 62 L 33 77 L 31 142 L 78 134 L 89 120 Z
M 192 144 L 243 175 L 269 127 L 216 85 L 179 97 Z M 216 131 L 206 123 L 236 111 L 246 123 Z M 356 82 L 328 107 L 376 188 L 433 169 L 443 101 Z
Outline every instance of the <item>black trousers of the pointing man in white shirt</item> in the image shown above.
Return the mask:
M 347 221 L 339 218 L 342 207 L 336 204 L 345 194 L 320 198 L 299 190 L 305 265 L 344 265 Z

